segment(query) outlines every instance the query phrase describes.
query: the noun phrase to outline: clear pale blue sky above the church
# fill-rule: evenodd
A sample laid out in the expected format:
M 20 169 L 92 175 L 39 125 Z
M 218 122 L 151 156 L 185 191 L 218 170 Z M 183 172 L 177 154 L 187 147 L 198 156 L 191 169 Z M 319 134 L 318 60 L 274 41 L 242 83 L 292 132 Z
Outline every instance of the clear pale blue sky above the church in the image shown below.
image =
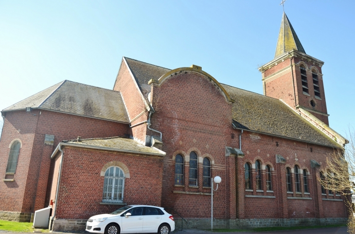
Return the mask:
M 273 59 L 281 0 L 0 0 L 0 109 L 63 80 L 112 89 L 122 56 L 202 69 L 263 93 L 258 67 Z M 325 62 L 330 127 L 355 126 L 355 1 L 287 0 L 306 53 Z M 1 123 L 0 123 L 1 124 Z

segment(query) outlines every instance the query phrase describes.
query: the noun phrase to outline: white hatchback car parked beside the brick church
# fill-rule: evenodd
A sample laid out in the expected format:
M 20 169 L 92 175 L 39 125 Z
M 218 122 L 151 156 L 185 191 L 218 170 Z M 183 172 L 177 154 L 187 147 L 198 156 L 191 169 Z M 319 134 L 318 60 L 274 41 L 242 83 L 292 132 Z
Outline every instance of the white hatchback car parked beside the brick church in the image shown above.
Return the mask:
M 101 234 L 169 234 L 174 230 L 174 217 L 163 208 L 151 205 L 124 206 L 111 214 L 90 217 L 86 223 L 86 231 Z

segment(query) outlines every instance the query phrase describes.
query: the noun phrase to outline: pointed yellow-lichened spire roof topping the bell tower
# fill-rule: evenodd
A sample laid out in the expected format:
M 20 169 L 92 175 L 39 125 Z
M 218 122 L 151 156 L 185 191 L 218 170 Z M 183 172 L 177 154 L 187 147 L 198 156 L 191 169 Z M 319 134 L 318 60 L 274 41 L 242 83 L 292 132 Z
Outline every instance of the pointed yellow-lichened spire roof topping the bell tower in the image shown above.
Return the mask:
M 290 50 L 298 50 L 302 53 L 306 53 L 295 30 L 284 13 L 281 20 L 279 38 L 277 39 L 275 58 Z

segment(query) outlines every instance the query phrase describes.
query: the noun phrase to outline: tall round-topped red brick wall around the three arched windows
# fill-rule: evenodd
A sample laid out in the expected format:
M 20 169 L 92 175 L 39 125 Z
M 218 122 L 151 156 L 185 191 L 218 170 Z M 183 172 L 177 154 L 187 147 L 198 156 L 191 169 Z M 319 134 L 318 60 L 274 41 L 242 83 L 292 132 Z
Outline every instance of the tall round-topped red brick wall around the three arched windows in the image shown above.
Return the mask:
M 201 163 L 198 164 L 198 188 L 188 185 L 189 163 L 186 161 L 184 186 L 174 186 L 173 157 L 177 153 L 188 156 L 194 150 L 198 157 L 211 157 L 214 160 L 212 177 L 218 175 L 222 178 L 222 183 L 214 193 L 213 216 L 230 217 L 225 207 L 230 203 L 229 199 L 235 201 L 235 196 L 230 196 L 231 190 L 227 188 L 233 183 L 229 184 L 227 179 L 229 172 L 226 171 L 226 164 L 229 159 L 225 157 L 225 146 L 232 146 L 231 105 L 205 77 L 195 73 L 180 73 L 164 81 L 160 87 L 153 87 L 153 107 L 156 113 L 152 116 L 151 127 L 162 132 L 162 150 L 166 152 L 162 205 L 172 207 L 183 217 L 211 216 L 211 195 L 173 193 L 211 193 L 210 188 L 202 187 Z M 234 161 L 231 163 L 234 164 Z

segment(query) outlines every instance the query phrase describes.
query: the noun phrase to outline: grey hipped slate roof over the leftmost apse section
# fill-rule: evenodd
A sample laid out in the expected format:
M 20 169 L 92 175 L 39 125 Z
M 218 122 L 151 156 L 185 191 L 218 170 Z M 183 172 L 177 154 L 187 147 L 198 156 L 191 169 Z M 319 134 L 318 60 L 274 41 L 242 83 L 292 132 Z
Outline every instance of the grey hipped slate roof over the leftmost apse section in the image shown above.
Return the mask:
M 21 100 L 3 111 L 26 107 L 129 123 L 120 92 L 67 80 Z

